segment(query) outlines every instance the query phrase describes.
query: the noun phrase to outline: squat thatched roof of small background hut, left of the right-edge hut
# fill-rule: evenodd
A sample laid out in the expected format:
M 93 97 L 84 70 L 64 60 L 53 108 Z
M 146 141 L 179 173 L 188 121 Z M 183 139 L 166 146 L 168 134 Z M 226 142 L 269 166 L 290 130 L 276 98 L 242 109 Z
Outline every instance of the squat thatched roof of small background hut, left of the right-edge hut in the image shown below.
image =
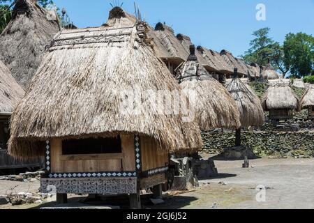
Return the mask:
M 269 86 L 262 98 L 262 107 L 265 111 L 271 109 L 297 109 L 299 98 L 289 85 L 282 82 Z

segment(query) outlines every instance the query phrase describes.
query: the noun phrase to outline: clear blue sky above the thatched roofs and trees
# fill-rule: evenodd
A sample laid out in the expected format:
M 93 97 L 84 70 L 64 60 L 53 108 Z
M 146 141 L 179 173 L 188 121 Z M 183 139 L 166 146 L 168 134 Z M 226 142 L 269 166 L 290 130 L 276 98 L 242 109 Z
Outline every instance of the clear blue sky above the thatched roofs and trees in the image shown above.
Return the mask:
M 118 0 L 117 0 L 118 1 Z M 119 0 L 122 8 L 134 13 L 134 1 Z M 114 0 L 54 0 L 66 8 L 78 27 L 100 26 L 108 17 Z M 184 33 L 195 45 L 234 56 L 244 54 L 253 31 L 268 26 L 271 37 L 283 43 L 287 33 L 305 32 L 314 36 L 314 0 L 136 0 L 145 20 L 155 26 L 166 22 L 175 33 Z M 266 21 L 257 21 L 256 6 L 266 6 Z

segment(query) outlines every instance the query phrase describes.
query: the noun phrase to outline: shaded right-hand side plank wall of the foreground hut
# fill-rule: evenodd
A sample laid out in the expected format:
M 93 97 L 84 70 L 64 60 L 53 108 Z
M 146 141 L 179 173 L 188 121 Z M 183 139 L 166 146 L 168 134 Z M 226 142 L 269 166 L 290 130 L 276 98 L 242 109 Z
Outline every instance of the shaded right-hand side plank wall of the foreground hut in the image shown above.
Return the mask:
M 169 164 L 169 153 L 163 153 L 160 145 L 150 137 L 141 137 L 142 171 L 165 167 Z

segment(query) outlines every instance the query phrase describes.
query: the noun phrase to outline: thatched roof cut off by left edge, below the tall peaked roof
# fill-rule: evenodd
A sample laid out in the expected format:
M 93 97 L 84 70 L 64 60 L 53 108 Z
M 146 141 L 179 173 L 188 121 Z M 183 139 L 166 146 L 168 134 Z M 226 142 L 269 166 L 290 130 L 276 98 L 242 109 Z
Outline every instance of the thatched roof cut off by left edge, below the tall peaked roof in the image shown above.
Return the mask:
M 24 96 L 24 90 L 0 61 L 0 113 L 10 114 Z

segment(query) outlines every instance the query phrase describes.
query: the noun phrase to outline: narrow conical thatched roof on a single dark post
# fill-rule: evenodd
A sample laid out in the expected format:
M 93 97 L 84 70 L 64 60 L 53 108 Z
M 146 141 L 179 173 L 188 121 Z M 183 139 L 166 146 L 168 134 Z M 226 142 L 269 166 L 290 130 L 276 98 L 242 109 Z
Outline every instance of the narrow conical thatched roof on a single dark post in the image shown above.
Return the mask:
M 237 103 L 240 112 L 241 127 L 261 126 L 264 124 L 264 111 L 260 98 L 244 84 L 241 79 L 234 77 L 227 85 L 227 90 Z

